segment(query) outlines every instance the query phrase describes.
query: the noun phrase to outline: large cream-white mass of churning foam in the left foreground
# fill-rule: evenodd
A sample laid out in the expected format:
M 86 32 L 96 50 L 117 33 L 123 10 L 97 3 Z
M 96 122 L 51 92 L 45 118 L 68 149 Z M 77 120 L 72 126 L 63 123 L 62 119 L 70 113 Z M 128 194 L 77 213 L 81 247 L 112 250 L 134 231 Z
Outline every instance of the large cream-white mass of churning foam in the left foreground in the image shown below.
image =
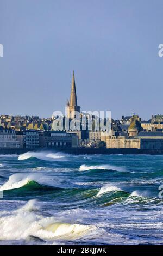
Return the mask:
M 55 238 L 75 239 L 93 227 L 82 224 L 58 222 L 55 217 L 40 214 L 35 200 L 30 200 L 22 208 L 0 218 L 0 240 L 27 239 L 29 236 L 53 240 Z

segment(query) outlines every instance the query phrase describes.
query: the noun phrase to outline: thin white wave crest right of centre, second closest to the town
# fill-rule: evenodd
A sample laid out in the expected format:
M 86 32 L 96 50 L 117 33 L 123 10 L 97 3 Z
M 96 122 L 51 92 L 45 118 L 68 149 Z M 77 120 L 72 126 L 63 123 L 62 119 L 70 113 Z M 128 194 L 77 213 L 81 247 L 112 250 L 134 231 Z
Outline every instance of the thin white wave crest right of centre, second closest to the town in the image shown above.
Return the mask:
M 103 164 L 103 165 L 96 165 L 96 166 L 86 166 L 83 164 L 80 166 L 79 170 L 84 171 L 84 170 L 95 170 L 95 169 L 102 169 L 102 170 L 116 170 L 117 172 L 126 172 L 126 169 L 123 167 L 118 167 L 118 166 L 111 166 L 109 164 Z

